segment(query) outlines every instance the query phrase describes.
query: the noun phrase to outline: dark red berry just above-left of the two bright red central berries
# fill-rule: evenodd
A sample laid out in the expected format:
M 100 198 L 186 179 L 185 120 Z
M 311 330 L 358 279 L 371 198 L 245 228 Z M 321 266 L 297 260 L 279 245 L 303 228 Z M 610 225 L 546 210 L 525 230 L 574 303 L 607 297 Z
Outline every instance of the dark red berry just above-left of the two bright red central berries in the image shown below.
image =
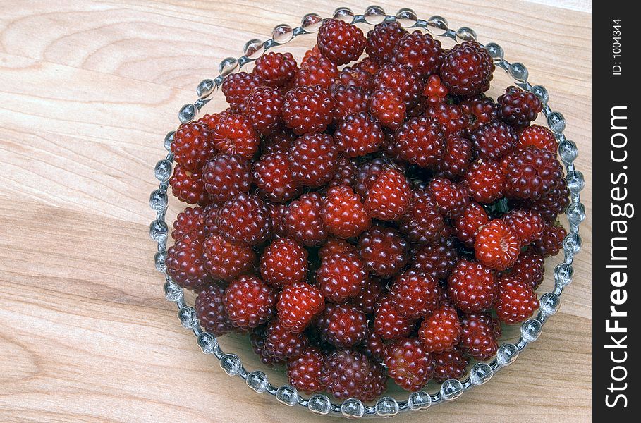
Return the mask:
M 338 150 L 331 135 L 305 134 L 298 138 L 289 152 L 289 169 L 301 185 L 319 187 L 334 178 L 338 166 Z

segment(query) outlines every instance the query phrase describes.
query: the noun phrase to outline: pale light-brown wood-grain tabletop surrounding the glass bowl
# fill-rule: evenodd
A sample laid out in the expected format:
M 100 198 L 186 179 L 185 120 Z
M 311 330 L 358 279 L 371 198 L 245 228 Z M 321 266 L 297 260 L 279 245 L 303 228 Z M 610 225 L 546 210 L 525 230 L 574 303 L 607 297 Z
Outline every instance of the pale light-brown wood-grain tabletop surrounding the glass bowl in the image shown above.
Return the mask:
M 590 3 L 551 3 L 381 6 L 446 16 L 523 61 L 568 119 L 590 210 Z M 312 4 L 0 2 L 1 422 L 331 420 L 276 405 L 200 353 L 163 298 L 147 235 L 152 168 L 178 108 L 247 39 L 339 5 Z M 489 384 L 403 421 L 587 421 L 591 223 L 588 214 L 575 282 L 539 341 Z

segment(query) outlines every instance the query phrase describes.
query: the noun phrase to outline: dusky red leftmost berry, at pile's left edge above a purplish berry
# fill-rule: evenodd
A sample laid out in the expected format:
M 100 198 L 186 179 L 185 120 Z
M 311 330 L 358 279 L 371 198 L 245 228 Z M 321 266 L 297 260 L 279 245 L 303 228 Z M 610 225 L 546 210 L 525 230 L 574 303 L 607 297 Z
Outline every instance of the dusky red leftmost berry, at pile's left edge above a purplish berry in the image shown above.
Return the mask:
M 167 273 L 185 289 L 198 290 L 211 281 L 202 260 L 202 241 L 185 234 L 167 250 Z

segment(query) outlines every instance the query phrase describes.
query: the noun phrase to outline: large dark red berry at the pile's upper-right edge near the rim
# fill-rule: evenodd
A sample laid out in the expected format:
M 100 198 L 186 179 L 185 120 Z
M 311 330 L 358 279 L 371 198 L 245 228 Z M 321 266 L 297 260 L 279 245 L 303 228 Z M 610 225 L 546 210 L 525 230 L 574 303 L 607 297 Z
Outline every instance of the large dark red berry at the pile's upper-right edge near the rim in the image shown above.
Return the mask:
M 452 94 L 470 97 L 487 91 L 494 72 L 494 61 L 475 41 L 456 44 L 441 62 L 441 80 Z

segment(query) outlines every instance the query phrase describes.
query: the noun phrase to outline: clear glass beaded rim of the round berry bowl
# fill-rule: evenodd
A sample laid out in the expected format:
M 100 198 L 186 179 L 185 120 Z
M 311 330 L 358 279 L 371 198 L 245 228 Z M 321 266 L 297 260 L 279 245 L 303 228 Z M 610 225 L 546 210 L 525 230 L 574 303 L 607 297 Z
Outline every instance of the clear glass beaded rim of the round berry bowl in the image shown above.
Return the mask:
M 418 19 L 416 13 L 408 8 L 402 8 L 396 15 L 387 15 L 380 6 L 370 6 L 361 15 L 354 14 L 349 8 L 340 7 L 334 11 L 333 18 L 344 20 L 347 23 L 363 23 L 376 25 L 384 21 L 398 21 L 405 28 L 417 28 L 427 30 L 434 37 L 449 38 L 455 42 L 476 40 L 477 35 L 469 27 L 460 27 L 458 30 L 451 30 L 447 20 L 441 16 L 432 16 L 428 20 Z M 219 89 L 226 76 L 239 71 L 245 64 L 258 59 L 265 51 L 278 47 L 299 35 L 313 34 L 322 25 L 323 19 L 316 13 L 308 13 L 303 17 L 299 27 L 291 27 L 286 24 L 277 25 L 271 33 L 271 39 L 261 42 L 252 39 L 245 44 L 244 54 L 238 59 L 228 57 L 219 65 L 220 75 L 216 78 L 206 79 L 197 86 L 198 99 L 193 104 L 185 104 L 178 112 L 178 119 L 181 123 L 192 121 L 202 107 L 207 104 L 212 95 Z M 165 221 L 168 207 L 167 190 L 169 189 L 169 178 L 171 177 L 173 153 L 171 142 L 173 134 L 171 131 L 164 138 L 164 147 L 169 152 L 165 159 L 161 159 L 154 168 L 156 178 L 160 181 L 157 190 L 154 190 L 149 197 L 149 205 L 157 212 L 156 219 L 149 226 L 149 235 L 158 244 L 158 250 L 154 256 L 156 269 L 165 276 L 164 293 L 167 300 L 175 302 L 178 307 L 178 318 L 185 329 L 191 329 L 197 338 L 197 343 L 205 354 L 214 355 L 220 361 L 220 366 L 231 376 L 239 376 L 244 379 L 247 385 L 257 393 L 269 393 L 285 405 L 305 407 L 311 412 L 319 415 L 338 415 L 350 418 L 360 417 L 391 417 L 399 412 L 425 410 L 432 405 L 445 403 L 459 398 L 465 391 L 474 386 L 482 385 L 492 378 L 494 373 L 499 372 L 503 367 L 512 364 L 521 350 L 528 344 L 539 338 L 543 325 L 547 319 L 556 311 L 561 302 L 563 288 L 568 286 L 573 277 L 573 259 L 581 248 L 581 237 L 579 235 L 580 223 L 585 219 L 585 205 L 581 203 L 580 191 L 585 185 L 585 180 L 580 171 L 575 169 L 574 161 L 578 150 L 575 143 L 566 139 L 563 130 L 566 128 L 566 121 L 558 111 L 552 111 L 548 105 L 549 94 L 542 85 L 531 85 L 527 81 L 528 72 L 523 63 L 510 63 L 503 58 L 503 49 L 499 44 L 489 42 L 484 45 L 494 59 L 497 67 L 502 68 L 513 78 L 515 85 L 530 91 L 541 100 L 544 105 L 543 114 L 547 119 L 547 125 L 556 136 L 559 142 L 558 154 L 566 168 L 566 180 L 570 189 L 570 206 L 566 210 L 566 216 L 570 223 L 570 231 L 563 240 L 563 262 L 554 269 L 554 290 L 545 293 L 540 297 L 540 307 L 537 315 L 527 319 L 520 328 L 520 338 L 516 343 L 503 343 L 499 346 L 496 356 L 489 362 L 477 362 L 470 369 L 468 376 L 464 379 L 449 379 L 444 381 L 439 390 L 434 393 L 416 391 L 410 393 L 407 400 L 396 400 L 391 396 L 379 398 L 375 405 L 364 405 L 360 400 L 349 398 L 342 403 L 333 403 L 324 394 L 317 393 L 305 398 L 300 396 L 296 388 L 290 385 L 273 386 L 269 383 L 267 375 L 260 370 L 253 372 L 243 367 L 238 355 L 224 353 L 213 333 L 203 331 L 196 317 L 195 309 L 185 302 L 183 288 L 171 280 L 166 273 L 165 259 L 167 255 L 167 238 L 169 228 Z

